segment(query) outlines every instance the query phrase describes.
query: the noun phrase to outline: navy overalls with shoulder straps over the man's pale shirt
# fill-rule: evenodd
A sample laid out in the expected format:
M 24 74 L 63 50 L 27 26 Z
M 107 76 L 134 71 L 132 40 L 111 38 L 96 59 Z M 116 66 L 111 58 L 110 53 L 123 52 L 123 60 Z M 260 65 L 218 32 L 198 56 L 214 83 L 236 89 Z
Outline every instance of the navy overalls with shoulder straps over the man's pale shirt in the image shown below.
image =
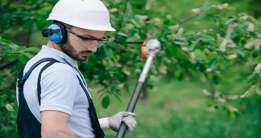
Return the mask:
M 24 91 L 23 87 L 25 84 L 25 81 L 28 79 L 29 75 L 33 71 L 35 67 L 37 67 L 40 63 L 45 62 L 45 61 L 51 61 L 47 63 L 40 71 L 39 76 L 38 76 L 38 82 L 37 82 L 37 95 L 38 95 L 38 101 L 39 105 L 41 104 L 41 85 L 40 85 L 40 80 L 41 80 L 41 74 L 42 72 L 49 66 L 51 66 L 53 63 L 59 62 L 56 59 L 53 58 L 43 58 L 36 63 L 33 64 L 32 67 L 25 73 L 24 73 L 24 68 L 26 63 L 21 69 L 21 72 L 18 74 L 18 98 L 19 98 L 19 106 L 18 106 L 18 115 L 17 115 L 17 127 L 18 127 L 18 136 L 20 138 L 41 138 L 41 123 L 37 120 L 37 118 L 33 115 L 33 113 L 30 111 L 27 102 L 24 97 Z M 92 128 L 94 129 L 94 134 L 95 138 L 104 138 L 105 134 L 100 127 L 99 120 L 96 114 L 96 109 L 94 107 L 92 98 L 88 94 L 88 91 L 84 87 L 84 84 L 81 82 L 80 78 L 78 75 L 76 75 L 81 87 L 83 88 L 89 102 L 89 113 L 90 113 L 90 118 L 92 121 Z

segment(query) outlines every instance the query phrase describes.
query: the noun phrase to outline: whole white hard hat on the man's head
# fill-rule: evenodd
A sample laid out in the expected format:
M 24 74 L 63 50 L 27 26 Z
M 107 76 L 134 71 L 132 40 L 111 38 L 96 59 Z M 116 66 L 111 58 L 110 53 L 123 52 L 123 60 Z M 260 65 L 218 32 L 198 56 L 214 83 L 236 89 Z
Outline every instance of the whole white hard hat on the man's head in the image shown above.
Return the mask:
M 100 0 L 60 0 L 47 20 L 98 31 L 115 31 L 111 27 L 110 13 Z

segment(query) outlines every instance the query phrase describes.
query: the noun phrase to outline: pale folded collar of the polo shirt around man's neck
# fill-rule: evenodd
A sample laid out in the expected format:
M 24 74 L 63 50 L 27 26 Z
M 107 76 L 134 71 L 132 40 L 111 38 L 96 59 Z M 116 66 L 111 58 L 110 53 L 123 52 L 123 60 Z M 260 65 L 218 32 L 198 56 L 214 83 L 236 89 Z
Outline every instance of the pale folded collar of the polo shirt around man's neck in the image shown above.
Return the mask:
M 42 45 L 42 49 L 40 52 L 45 52 L 45 53 L 53 54 L 55 56 L 59 56 L 60 58 L 63 58 L 67 63 L 78 68 L 76 60 L 72 59 L 71 57 L 66 55 L 64 52 L 61 52 L 60 50 L 47 47 L 46 45 Z

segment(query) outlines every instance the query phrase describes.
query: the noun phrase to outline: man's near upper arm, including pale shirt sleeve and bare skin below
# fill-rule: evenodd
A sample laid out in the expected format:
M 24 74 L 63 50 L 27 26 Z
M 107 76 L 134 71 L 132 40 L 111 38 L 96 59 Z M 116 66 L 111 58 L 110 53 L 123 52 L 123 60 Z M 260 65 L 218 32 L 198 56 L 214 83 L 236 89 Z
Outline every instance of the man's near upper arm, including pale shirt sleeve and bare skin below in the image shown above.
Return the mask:
M 76 138 L 68 121 L 79 82 L 71 67 L 55 64 L 60 65 L 47 68 L 41 80 L 41 135 L 42 138 Z

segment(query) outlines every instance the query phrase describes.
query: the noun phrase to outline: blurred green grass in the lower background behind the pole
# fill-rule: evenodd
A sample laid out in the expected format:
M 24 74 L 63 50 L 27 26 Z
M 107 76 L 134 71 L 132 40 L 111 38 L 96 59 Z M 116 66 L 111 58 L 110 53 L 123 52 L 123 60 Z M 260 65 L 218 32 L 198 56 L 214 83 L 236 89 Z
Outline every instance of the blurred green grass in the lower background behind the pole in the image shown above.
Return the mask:
M 230 74 L 233 75 L 233 74 Z M 219 89 L 228 90 L 240 95 L 241 87 L 235 87 L 240 80 L 236 73 L 234 79 L 221 83 Z M 230 85 L 229 85 L 230 84 Z M 122 102 L 111 96 L 111 104 L 107 109 L 101 106 L 99 94 L 92 93 L 98 117 L 109 117 L 117 112 L 125 111 L 134 90 L 135 81 L 130 81 L 130 93 L 123 93 Z M 137 126 L 134 131 L 125 135 L 126 138 L 260 138 L 260 112 L 257 108 L 246 109 L 243 116 L 231 119 L 224 110 L 207 112 L 207 99 L 202 94 L 204 84 L 195 79 L 177 81 L 176 79 L 161 80 L 149 91 L 148 100 L 139 100 L 134 113 Z M 233 88 L 234 89 L 233 91 Z M 241 88 L 241 89 L 240 89 Z M 245 99 L 235 102 L 235 107 L 242 108 Z M 248 103 L 248 102 L 247 102 Z M 251 102 L 250 102 L 251 104 Z M 254 103 L 256 104 L 256 103 Z M 253 105 L 253 104 L 251 104 Z M 260 106 L 259 106 L 260 107 Z M 105 130 L 107 138 L 116 136 L 116 132 Z

